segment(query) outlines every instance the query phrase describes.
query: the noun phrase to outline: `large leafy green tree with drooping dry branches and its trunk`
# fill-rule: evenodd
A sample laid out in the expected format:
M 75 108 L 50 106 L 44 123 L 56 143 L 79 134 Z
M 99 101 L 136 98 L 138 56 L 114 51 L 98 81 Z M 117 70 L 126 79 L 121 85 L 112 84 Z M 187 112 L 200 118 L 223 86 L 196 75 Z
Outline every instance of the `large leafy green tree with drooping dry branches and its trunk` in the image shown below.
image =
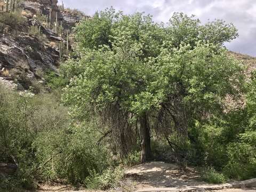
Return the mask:
M 190 124 L 220 113 L 225 97 L 239 93 L 242 69 L 223 48 L 237 30 L 223 21 L 201 25 L 174 13 L 163 25 L 150 15 L 109 9 L 79 23 L 75 33 L 77 58 L 64 66 L 70 83 L 63 101 L 76 117 L 100 117 L 121 156 L 132 148 L 137 125 L 145 162 L 150 119 L 167 139 L 174 131 L 186 136 Z

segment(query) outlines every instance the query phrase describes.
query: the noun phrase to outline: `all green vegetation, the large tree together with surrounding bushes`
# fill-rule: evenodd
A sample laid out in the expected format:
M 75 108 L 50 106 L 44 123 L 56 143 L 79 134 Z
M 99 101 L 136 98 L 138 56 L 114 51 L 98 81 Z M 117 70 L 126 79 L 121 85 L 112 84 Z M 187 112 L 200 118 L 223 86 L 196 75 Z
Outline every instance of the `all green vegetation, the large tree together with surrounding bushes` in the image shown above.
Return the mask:
M 233 24 L 174 13 L 163 25 L 111 8 L 74 36 L 58 75 L 38 71 L 49 92 L 0 87 L 0 162 L 18 167 L 0 175 L 3 190 L 108 189 L 124 166 L 153 160 L 197 167 L 211 183 L 256 177 L 256 73 L 223 46 Z

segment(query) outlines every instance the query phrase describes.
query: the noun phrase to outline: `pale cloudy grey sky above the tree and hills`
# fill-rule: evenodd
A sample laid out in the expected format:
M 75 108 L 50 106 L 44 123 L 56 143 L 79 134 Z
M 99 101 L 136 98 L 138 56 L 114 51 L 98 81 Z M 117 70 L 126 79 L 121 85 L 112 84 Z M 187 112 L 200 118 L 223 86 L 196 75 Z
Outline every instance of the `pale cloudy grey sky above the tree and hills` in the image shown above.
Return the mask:
M 143 11 L 153 15 L 156 22 L 167 22 L 173 12 L 195 14 L 202 22 L 223 19 L 233 22 L 239 33 L 226 46 L 231 51 L 256 56 L 255 0 L 63 0 L 63 3 L 88 15 L 110 6 L 124 13 Z

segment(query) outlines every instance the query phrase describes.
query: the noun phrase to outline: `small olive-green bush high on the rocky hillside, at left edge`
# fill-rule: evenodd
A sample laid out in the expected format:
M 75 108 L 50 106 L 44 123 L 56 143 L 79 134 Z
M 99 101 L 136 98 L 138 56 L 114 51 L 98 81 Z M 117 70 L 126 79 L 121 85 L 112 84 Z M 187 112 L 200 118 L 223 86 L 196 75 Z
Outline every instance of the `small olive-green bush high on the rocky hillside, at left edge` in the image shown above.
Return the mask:
M 0 15 L 0 23 L 4 23 L 5 25 L 9 25 L 14 29 L 19 29 L 22 25 L 24 25 L 26 19 L 22 17 L 22 15 L 18 12 L 8 13 L 4 12 Z

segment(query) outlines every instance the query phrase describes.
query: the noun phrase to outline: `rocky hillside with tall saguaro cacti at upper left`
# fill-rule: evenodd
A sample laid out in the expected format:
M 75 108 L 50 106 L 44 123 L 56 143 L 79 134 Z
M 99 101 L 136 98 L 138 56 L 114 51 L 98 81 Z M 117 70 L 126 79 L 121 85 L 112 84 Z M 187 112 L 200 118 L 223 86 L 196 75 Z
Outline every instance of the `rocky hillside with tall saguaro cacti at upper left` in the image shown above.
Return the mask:
M 85 16 L 57 4 L 57 0 L 21 1 L 6 10 L 0 0 L 4 5 L 0 13 L 0 83 L 12 89 L 35 89 L 45 83 L 46 71 L 58 74 L 60 59 L 67 58 L 71 50 L 70 37 L 69 50 L 66 48 L 67 33 Z

